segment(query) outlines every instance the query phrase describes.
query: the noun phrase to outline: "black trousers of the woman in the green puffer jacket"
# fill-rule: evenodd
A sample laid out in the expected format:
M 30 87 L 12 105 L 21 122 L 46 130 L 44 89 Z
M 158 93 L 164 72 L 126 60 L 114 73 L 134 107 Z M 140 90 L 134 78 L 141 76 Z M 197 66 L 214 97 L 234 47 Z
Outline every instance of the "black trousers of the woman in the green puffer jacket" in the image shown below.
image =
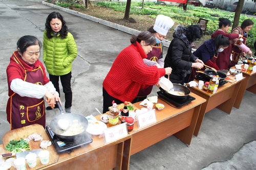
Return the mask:
M 72 90 L 71 90 L 71 71 L 67 75 L 62 75 L 62 76 L 53 76 L 50 75 L 50 81 L 54 85 L 56 91 L 59 93 L 59 77 L 60 77 L 60 82 L 63 88 L 63 92 L 65 93 L 65 108 L 69 108 L 72 106 Z

